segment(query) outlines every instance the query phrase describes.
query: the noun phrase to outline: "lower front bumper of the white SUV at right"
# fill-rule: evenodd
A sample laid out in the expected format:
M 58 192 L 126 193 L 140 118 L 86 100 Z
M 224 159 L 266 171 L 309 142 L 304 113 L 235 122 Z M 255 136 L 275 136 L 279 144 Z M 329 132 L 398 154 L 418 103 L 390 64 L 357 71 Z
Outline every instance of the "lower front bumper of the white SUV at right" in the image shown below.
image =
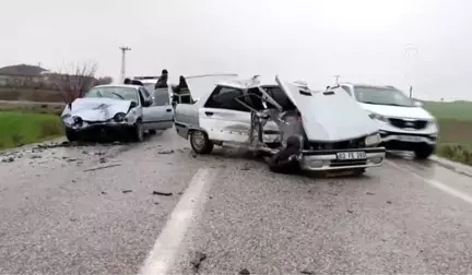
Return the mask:
M 417 146 L 435 146 L 437 133 L 402 133 L 380 131 L 381 146 L 387 150 L 413 151 Z

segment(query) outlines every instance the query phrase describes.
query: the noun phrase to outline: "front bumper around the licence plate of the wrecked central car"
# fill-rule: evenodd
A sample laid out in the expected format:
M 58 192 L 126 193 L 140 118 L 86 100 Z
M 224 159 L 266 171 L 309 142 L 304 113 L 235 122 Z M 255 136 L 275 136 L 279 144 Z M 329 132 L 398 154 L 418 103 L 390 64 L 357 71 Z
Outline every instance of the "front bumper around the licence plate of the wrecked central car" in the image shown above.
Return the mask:
M 363 159 L 339 159 L 338 153 L 365 152 Z M 333 150 L 333 151 L 303 151 L 298 162 L 303 170 L 340 170 L 380 166 L 386 157 L 385 147 Z

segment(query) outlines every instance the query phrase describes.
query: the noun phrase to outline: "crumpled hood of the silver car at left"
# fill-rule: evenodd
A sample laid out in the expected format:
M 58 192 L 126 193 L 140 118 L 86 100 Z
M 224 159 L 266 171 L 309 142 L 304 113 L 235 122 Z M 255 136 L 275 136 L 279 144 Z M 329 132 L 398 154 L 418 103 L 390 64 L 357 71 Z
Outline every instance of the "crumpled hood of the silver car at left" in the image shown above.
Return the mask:
M 78 98 L 72 103 L 70 115 L 84 121 L 106 121 L 118 112 L 128 113 L 131 100 L 114 98 Z M 66 107 L 68 108 L 68 107 Z

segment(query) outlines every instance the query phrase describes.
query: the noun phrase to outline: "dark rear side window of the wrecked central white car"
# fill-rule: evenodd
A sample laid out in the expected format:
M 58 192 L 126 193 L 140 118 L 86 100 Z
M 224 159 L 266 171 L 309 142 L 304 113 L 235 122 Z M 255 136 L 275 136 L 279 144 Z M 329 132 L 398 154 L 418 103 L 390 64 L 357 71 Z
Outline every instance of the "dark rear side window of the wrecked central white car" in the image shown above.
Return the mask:
M 241 89 L 234 87 L 217 86 L 213 91 L 204 107 L 216 109 L 228 109 L 237 111 L 249 111 L 236 100 L 236 97 L 244 95 Z

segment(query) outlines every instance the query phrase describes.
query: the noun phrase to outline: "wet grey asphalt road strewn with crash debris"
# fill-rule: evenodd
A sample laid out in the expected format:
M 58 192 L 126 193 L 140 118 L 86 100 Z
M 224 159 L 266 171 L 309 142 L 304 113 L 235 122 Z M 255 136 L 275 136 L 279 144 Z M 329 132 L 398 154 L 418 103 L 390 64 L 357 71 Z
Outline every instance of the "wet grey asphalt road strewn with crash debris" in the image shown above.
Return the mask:
M 174 130 L 0 159 L 2 275 L 472 274 L 472 178 L 433 162 L 284 176 Z

